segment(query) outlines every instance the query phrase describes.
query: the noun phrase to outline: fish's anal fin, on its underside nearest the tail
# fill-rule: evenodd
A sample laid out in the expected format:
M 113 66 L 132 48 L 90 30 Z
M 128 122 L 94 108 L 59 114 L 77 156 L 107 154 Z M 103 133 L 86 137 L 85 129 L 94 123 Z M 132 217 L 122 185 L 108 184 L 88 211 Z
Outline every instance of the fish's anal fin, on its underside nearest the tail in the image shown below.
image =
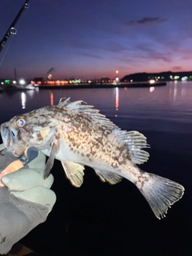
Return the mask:
M 110 174 L 106 171 L 99 170 L 99 169 L 94 169 L 94 171 L 102 182 L 108 182 L 110 183 L 110 185 L 114 185 L 118 182 L 121 182 L 122 180 L 122 177 L 119 176 L 118 174 Z

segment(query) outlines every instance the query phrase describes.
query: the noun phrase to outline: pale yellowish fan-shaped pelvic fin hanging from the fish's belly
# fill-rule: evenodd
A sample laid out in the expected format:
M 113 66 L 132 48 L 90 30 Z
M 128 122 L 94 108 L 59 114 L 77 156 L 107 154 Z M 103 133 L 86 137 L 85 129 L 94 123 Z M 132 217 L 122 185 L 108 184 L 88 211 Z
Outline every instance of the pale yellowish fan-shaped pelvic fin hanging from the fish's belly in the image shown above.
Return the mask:
M 73 186 L 79 187 L 83 182 L 83 170 L 84 166 L 77 162 L 62 161 L 63 169 L 66 172 L 66 178 L 68 178 Z

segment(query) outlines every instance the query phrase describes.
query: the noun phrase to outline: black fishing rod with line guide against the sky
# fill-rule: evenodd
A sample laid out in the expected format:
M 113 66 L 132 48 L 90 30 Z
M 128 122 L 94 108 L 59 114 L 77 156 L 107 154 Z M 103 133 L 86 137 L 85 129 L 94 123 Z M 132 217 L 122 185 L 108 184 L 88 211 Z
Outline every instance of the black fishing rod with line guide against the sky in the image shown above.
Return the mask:
M 8 40 L 8 38 L 10 37 L 10 35 L 15 35 L 17 34 L 17 30 L 14 28 L 14 26 L 16 25 L 16 23 L 18 22 L 18 19 L 20 18 L 23 10 L 26 10 L 29 8 L 29 2 L 30 0 L 26 0 L 26 2 L 24 3 L 24 5 L 22 6 L 21 10 L 19 10 L 18 15 L 14 18 L 14 21 L 12 22 L 12 24 L 10 25 L 9 29 L 6 31 L 6 34 L 4 35 L 4 37 L 2 38 L 2 41 L 0 41 L 0 52 L 2 51 L 3 47 L 6 44 L 6 41 Z

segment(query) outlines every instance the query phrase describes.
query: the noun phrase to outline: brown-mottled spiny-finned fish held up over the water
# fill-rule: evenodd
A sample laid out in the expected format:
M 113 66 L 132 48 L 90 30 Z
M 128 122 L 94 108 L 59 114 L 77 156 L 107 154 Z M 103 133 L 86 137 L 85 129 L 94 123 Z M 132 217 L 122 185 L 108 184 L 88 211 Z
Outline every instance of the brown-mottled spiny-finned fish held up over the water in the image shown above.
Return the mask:
M 121 130 L 82 100 L 61 98 L 58 105 L 17 115 L 2 123 L 1 134 L 4 146 L 18 158 L 30 146 L 46 154 L 43 178 L 49 176 L 54 159 L 58 159 L 75 187 L 82 186 L 85 166 L 111 185 L 128 179 L 138 187 L 158 219 L 166 217 L 170 206 L 184 194 L 178 182 L 138 167 L 150 156 L 144 150 L 150 145 L 143 134 Z

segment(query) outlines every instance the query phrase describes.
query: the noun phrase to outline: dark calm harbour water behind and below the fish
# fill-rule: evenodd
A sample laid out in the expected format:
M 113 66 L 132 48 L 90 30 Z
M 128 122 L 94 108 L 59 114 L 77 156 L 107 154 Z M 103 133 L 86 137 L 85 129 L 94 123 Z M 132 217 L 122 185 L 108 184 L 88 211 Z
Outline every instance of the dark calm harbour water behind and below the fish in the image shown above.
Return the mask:
M 184 197 L 159 221 L 145 198 L 126 179 L 102 183 L 86 167 L 84 183 L 74 188 L 60 162 L 52 173 L 57 202 L 46 222 L 22 239 L 43 255 L 192 255 L 192 82 L 130 89 L 39 90 L 0 94 L 0 123 L 16 114 L 82 99 L 122 130 L 145 134 L 151 148 L 142 170 L 186 188 Z

